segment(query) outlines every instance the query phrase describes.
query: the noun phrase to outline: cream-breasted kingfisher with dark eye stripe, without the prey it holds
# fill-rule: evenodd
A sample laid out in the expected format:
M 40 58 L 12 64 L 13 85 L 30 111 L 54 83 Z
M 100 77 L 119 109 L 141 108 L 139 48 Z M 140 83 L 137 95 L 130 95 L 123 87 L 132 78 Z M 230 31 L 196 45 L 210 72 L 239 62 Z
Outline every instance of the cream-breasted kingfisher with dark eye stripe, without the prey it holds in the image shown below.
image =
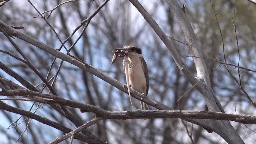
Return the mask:
M 142 50 L 138 46 L 124 46 L 124 48 L 115 48 L 115 50 L 124 50 L 128 52 L 128 75 L 130 86 L 141 93 L 141 97 L 148 96 L 149 78 L 148 66 L 142 57 Z M 140 101 L 141 109 L 148 110 L 148 105 Z

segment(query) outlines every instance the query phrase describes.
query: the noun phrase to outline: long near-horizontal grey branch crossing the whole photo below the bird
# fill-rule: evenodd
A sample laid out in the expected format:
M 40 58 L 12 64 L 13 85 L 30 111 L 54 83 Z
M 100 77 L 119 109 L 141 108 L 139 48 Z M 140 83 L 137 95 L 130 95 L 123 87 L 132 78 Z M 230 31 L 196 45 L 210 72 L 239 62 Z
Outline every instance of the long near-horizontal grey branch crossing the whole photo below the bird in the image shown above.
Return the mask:
M 182 118 L 182 119 L 211 119 L 211 120 L 231 120 L 243 124 L 256 124 L 256 116 L 226 114 L 222 112 L 208 111 L 189 111 L 189 110 L 136 110 L 123 112 L 110 112 L 90 104 L 83 104 L 74 100 L 66 100 L 60 96 L 52 94 L 42 94 L 30 90 L 6 90 L 1 91 L 0 95 L 17 96 L 29 95 L 31 97 L 39 96 L 44 99 L 36 99 L 37 102 L 54 102 L 60 105 L 66 105 L 73 108 L 79 108 L 82 112 L 94 112 L 98 118 L 102 119 L 136 119 L 136 118 Z M 23 115 L 23 114 L 22 114 Z

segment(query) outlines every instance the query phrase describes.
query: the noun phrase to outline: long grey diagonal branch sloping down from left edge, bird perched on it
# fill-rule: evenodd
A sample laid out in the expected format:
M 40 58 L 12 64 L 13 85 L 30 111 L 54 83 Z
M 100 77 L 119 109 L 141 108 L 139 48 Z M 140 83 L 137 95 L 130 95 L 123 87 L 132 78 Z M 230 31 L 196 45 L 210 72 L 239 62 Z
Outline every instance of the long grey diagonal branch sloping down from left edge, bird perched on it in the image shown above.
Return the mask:
M 98 78 L 101 78 L 102 80 L 108 82 L 109 84 L 111 84 L 112 86 L 115 86 L 116 88 L 118 88 L 119 90 L 126 92 L 128 94 L 127 89 L 124 90 L 123 86 L 124 84 L 122 84 L 121 82 L 118 82 L 117 80 L 115 80 L 114 78 L 111 78 L 110 76 L 108 76 L 107 74 L 101 72 L 100 70 L 94 68 L 93 66 L 82 62 L 81 60 L 75 59 L 72 56 L 69 56 L 67 54 L 64 54 L 38 40 L 36 40 L 35 38 L 32 38 L 31 36 L 28 36 L 10 26 L 8 26 L 7 24 L 5 24 L 4 22 L 2 22 L 0 20 L 0 27 L 2 27 L 5 31 L 7 31 L 9 34 L 12 34 L 13 36 L 20 38 L 21 40 L 24 40 L 46 52 L 48 52 L 49 54 L 52 54 L 53 56 L 56 56 L 58 58 L 60 58 L 61 60 L 64 60 L 66 62 L 69 62 L 70 64 L 73 64 L 74 66 L 77 66 L 79 68 L 81 68 L 82 70 L 85 70 L 87 72 L 90 72 L 91 74 L 97 76 Z M 140 97 L 140 93 L 132 90 L 132 97 L 141 100 Z M 164 104 L 158 103 L 155 100 L 150 100 L 149 98 L 143 98 L 143 102 L 146 102 L 147 104 L 150 104 L 151 106 L 154 106 L 155 108 L 158 109 L 167 109 L 170 110 L 171 108 L 169 106 L 166 106 Z

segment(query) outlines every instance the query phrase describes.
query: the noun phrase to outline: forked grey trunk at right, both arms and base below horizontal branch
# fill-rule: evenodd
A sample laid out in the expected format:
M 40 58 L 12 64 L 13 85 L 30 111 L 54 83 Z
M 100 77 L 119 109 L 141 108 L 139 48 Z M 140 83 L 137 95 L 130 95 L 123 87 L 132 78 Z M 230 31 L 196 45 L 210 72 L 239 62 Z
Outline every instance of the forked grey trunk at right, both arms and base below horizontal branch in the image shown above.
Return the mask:
M 220 102 L 216 98 L 214 91 L 212 90 L 205 61 L 200 58 L 198 59 L 193 58 L 194 64 L 196 66 L 196 72 L 197 72 L 197 79 L 195 80 L 195 78 L 186 69 L 177 51 L 175 50 L 172 42 L 168 40 L 167 36 L 164 34 L 164 32 L 161 30 L 158 24 L 156 24 L 154 19 L 148 14 L 148 12 L 146 12 L 146 10 L 138 2 L 138 0 L 130 0 L 130 2 L 138 9 L 138 11 L 142 14 L 142 16 L 144 16 L 148 24 L 150 24 L 152 29 L 156 32 L 156 34 L 158 34 L 159 38 L 164 42 L 164 44 L 172 54 L 172 57 L 176 62 L 178 68 L 183 72 L 184 76 L 196 88 L 196 90 L 200 92 L 209 110 L 212 112 L 224 112 L 224 109 L 222 108 Z M 188 44 L 191 54 L 193 56 L 202 57 L 202 51 L 200 49 L 200 45 L 196 38 L 196 35 L 194 34 L 192 26 L 190 25 L 190 22 L 186 14 L 182 10 L 178 2 L 176 0 L 165 0 L 165 2 L 166 4 L 168 4 L 168 7 L 172 10 L 174 15 L 176 16 L 184 32 L 184 36 L 186 38 L 186 44 Z M 198 81 L 199 83 L 197 83 Z M 222 136 L 222 138 L 224 138 L 228 143 L 237 142 L 240 144 L 244 144 L 244 142 L 242 141 L 242 139 L 240 138 L 236 130 L 232 127 L 232 125 L 228 121 L 218 120 L 218 121 L 214 121 L 213 124 L 206 124 L 206 126 L 212 128 L 214 132 Z

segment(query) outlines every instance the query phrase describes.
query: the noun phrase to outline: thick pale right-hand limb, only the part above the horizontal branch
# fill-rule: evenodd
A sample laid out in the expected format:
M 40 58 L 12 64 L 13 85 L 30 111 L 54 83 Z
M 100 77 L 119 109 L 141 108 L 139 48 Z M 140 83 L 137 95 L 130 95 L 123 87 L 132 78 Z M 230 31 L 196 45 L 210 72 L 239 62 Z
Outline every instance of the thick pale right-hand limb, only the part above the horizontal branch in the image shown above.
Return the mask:
M 194 30 L 181 6 L 178 4 L 176 0 L 166 0 L 166 4 L 172 10 L 174 15 L 176 16 L 182 31 L 184 32 L 184 36 L 186 38 L 186 43 L 190 49 L 192 56 L 203 57 L 202 51 L 200 49 L 200 44 L 196 38 Z M 200 83 L 195 86 L 196 90 L 202 94 L 208 108 L 212 112 L 224 112 L 220 102 L 216 98 L 212 86 L 210 84 L 209 74 L 207 72 L 207 67 L 204 59 L 194 57 L 194 64 L 196 66 L 196 72 L 198 80 Z M 186 76 L 186 75 L 185 75 Z M 187 78 L 187 76 L 186 76 Z M 191 83 L 191 82 L 190 82 Z M 192 84 L 192 83 L 191 83 Z M 192 84 L 193 85 L 193 84 Z

